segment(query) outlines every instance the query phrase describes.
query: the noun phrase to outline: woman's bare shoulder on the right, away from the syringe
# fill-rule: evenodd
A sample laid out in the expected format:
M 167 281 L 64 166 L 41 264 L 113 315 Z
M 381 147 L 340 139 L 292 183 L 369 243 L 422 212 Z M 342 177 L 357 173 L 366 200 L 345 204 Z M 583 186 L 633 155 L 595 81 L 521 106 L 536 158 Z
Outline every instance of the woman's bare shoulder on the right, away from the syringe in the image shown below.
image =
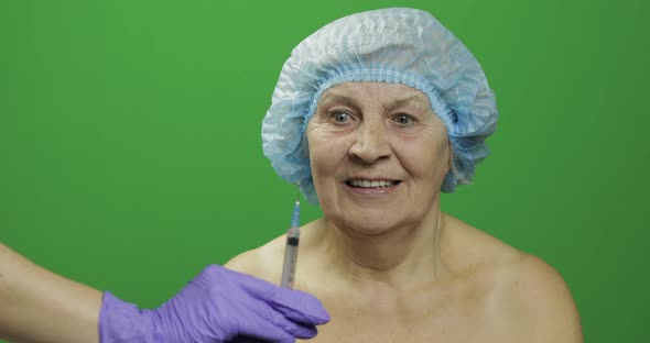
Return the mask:
M 445 221 L 452 228 L 447 257 L 456 270 L 483 276 L 492 325 L 516 336 L 503 341 L 583 342 L 571 291 L 551 265 L 451 215 Z

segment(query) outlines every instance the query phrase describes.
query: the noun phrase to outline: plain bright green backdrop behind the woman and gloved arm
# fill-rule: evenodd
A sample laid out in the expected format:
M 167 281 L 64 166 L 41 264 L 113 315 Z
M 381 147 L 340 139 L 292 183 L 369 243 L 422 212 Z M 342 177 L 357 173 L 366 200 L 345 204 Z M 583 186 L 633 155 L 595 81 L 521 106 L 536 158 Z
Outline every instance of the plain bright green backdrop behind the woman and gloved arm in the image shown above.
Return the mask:
M 1 1 L 0 242 L 160 305 L 289 225 L 295 189 L 260 121 L 291 49 L 345 14 L 415 7 L 474 52 L 501 115 L 443 209 L 553 265 L 588 342 L 641 342 L 647 3 Z

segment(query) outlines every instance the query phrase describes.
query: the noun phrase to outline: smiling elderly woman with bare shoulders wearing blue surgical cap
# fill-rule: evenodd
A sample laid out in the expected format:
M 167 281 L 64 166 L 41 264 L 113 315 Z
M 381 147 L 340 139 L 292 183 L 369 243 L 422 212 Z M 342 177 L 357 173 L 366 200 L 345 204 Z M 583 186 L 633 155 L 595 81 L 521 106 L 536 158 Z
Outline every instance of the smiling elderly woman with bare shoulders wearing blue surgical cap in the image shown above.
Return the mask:
M 562 277 L 440 209 L 497 122 L 472 53 L 431 14 L 339 19 L 286 60 L 264 153 L 321 204 L 295 287 L 331 314 L 315 342 L 582 342 Z M 278 283 L 285 237 L 227 267 Z

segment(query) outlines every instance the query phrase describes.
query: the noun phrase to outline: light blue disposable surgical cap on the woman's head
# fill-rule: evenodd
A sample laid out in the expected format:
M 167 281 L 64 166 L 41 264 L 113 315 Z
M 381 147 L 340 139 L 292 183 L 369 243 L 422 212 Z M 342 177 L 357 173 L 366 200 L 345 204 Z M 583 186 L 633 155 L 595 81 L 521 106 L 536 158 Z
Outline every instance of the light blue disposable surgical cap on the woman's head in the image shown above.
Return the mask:
M 317 203 L 305 129 L 323 91 L 350 81 L 401 84 L 422 91 L 446 125 L 453 168 L 442 191 L 472 180 L 496 129 L 492 90 L 472 53 L 430 13 L 382 9 L 338 19 L 302 41 L 284 63 L 262 121 L 275 172 Z

